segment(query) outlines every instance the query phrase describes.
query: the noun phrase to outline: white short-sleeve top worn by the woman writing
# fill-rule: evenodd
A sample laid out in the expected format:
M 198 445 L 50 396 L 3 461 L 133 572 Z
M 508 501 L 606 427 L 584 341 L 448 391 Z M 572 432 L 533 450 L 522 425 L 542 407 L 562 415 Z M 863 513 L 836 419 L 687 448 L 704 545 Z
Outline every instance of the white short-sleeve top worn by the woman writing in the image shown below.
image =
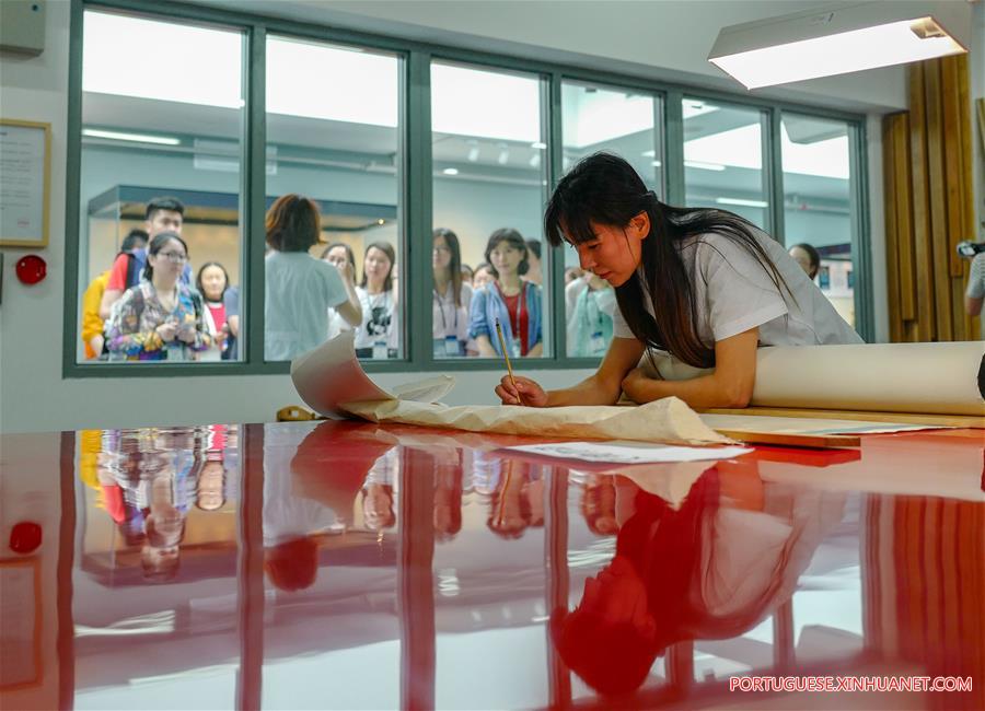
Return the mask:
M 758 259 L 731 238 L 714 232 L 687 237 L 679 252 L 694 289 L 696 331 L 702 342 L 714 348 L 716 341 L 758 327 L 761 346 L 861 343 L 786 249 L 764 232 L 754 230 L 753 234 L 786 280 L 792 299 L 786 289 L 783 293 L 777 290 Z M 645 276 L 637 272 L 637 278 Z M 649 291 L 646 281 L 642 291 Z M 645 300 L 644 306 L 652 316 L 652 303 Z M 613 335 L 634 338 L 618 308 Z

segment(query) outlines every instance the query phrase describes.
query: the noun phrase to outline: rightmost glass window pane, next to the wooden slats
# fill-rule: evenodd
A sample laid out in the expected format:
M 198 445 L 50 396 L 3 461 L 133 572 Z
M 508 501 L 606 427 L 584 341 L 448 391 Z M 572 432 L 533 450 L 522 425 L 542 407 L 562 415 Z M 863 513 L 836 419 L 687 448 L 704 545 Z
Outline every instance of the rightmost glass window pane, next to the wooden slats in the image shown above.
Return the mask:
M 780 133 L 786 246 L 854 327 L 848 124 L 785 113 Z

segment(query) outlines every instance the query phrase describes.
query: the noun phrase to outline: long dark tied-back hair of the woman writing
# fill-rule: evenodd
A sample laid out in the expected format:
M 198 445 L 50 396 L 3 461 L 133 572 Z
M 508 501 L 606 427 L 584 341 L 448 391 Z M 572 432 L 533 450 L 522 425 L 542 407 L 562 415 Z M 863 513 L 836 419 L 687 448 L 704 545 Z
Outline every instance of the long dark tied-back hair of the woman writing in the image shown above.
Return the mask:
M 575 244 L 595 240 L 592 223 L 625 229 L 640 212 L 650 219 L 649 237 L 641 242 L 640 267 L 646 284 L 636 278 L 616 288 L 619 311 L 633 335 L 651 348 L 669 351 L 697 368 L 715 364 L 715 349 L 697 334 L 694 288 L 680 255 L 687 237 L 717 233 L 749 252 L 769 276 L 777 291 L 792 292 L 754 235 L 755 225 L 727 210 L 674 208 L 661 202 L 625 160 L 594 153 L 568 173 L 551 197 L 544 233 L 557 246 L 565 237 Z M 644 294 L 646 288 L 646 295 Z M 642 304 L 653 305 L 651 317 Z

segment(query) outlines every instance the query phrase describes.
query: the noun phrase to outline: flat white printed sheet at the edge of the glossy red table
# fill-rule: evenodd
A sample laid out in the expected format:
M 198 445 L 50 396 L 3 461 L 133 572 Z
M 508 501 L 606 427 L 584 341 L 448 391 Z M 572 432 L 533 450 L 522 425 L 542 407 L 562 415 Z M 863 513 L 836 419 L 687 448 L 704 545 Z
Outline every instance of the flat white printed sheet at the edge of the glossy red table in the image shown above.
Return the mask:
M 685 447 L 641 445 L 634 442 L 557 442 L 503 447 L 561 459 L 606 462 L 611 464 L 656 464 L 660 462 L 709 462 L 731 459 L 752 452 L 749 447 Z

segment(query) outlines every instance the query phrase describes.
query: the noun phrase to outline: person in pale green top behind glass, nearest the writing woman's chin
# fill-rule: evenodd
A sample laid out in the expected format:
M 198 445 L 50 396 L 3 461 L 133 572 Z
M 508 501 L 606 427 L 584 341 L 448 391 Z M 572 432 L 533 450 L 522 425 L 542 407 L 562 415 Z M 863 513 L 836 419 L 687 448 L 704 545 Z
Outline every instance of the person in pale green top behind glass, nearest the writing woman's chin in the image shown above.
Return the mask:
M 565 287 L 565 303 L 568 356 L 604 356 L 612 340 L 613 314 L 617 308 L 615 289 L 589 272 Z

